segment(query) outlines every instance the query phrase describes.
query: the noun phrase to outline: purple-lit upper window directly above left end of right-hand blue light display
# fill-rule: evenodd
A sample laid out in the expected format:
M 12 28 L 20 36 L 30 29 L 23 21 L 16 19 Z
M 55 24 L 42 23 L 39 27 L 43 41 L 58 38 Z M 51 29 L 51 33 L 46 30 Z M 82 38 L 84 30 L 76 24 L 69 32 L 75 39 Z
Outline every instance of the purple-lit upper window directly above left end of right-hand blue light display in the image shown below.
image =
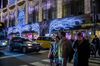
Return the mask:
M 43 0 L 42 3 L 43 3 L 42 19 L 51 20 L 56 18 L 57 0 Z

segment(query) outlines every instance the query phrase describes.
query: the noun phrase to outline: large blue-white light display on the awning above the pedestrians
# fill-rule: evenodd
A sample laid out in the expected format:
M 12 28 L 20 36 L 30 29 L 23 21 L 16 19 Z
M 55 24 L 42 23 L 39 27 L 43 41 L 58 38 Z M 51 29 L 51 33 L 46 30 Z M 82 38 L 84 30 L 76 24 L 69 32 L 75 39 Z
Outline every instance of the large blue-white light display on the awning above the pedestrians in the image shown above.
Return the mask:
M 78 17 L 68 17 L 63 19 L 55 19 L 51 21 L 50 27 L 49 27 L 49 34 L 52 32 L 52 30 L 60 30 L 60 29 L 70 29 L 74 28 L 75 26 L 79 26 L 83 23 L 82 18 Z

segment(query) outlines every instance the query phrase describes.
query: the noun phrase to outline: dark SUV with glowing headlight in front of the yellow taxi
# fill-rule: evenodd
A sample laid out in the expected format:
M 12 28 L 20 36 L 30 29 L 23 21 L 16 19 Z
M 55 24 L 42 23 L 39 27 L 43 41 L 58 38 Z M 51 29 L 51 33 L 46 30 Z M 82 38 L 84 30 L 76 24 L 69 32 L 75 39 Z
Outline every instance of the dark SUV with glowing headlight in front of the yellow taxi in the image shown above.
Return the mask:
M 10 51 L 14 51 L 14 49 L 17 49 L 23 53 L 26 53 L 28 51 L 39 52 L 41 46 L 39 43 L 33 43 L 29 39 L 14 37 L 10 40 L 9 49 Z

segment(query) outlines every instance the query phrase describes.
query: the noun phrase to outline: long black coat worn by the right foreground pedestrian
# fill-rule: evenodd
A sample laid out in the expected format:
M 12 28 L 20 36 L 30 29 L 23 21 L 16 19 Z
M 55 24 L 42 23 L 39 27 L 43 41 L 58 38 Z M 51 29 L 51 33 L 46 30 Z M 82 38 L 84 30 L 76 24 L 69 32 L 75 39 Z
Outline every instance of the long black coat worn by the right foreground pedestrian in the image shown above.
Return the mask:
M 80 42 L 76 40 L 73 48 L 75 48 L 75 59 L 77 59 L 77 63 L 75 66 L 88 66 L 88 59 L 90 57 L 89 41 L 83 39 L 80 44 Z

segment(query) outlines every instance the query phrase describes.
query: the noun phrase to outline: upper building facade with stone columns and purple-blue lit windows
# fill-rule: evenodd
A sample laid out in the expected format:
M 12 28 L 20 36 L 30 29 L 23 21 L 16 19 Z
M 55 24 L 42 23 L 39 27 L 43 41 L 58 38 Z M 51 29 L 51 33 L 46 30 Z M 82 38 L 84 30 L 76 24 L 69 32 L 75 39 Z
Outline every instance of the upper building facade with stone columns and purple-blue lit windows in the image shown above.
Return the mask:
M 0 10 L 0 21 L 5 22 L 7 28 L 25 27 L 26 24 L 42 23 L 44 19 L 67 16 L 89 15 L 91 20 L 90 14 L 91 0 L 8 0 L 8 6 Z

